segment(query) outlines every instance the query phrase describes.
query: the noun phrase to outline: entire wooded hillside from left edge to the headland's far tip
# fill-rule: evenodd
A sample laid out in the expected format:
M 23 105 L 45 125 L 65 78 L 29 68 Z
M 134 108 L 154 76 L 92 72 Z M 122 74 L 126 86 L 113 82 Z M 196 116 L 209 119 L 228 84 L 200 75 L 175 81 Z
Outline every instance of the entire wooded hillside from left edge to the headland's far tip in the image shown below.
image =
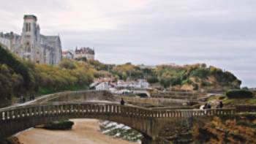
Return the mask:
M 95 77 L 112 77 L 113 80 L 145 78 L 156 88 L 178 91 L 240 88 L 241 85 L 232 73 L 206 64 L 159 65 L 151 69 L 131 63 L 114 65 L 64 58 L 58 66 L 50 66 L 25 61 L 0 45 L 0 107 L 10 105 L 13 97 L 86 89 Z

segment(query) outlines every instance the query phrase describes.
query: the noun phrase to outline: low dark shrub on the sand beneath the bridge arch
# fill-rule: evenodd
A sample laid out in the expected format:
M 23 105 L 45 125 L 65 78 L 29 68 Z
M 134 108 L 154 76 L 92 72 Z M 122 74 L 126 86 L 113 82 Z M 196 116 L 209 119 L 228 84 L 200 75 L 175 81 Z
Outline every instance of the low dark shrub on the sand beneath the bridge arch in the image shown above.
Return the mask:
M 68 130 L 72 129 L 73 125 L 73 121 L 54 121 L 49 124 L 45 124 L 43 128 L 51 130 Z

